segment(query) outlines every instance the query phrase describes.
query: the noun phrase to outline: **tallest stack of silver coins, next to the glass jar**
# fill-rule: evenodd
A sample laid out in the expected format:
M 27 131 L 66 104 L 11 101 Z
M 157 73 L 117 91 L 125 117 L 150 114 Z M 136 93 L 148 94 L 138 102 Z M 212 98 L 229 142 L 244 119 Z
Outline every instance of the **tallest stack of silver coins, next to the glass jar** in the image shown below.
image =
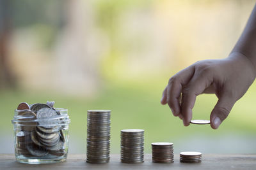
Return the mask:
M 87 112 L 88 163 L 108 163 L 110 153 L 110 110 Z

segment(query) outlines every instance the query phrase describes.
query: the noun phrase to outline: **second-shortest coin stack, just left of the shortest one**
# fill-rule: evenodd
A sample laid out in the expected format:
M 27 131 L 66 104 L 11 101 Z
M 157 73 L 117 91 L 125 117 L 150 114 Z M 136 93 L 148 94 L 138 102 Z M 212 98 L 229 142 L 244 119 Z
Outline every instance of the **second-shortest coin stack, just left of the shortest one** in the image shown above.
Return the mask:
M 152 143 L 152 161 L 156 163 L 173 162 L 173 143 Z

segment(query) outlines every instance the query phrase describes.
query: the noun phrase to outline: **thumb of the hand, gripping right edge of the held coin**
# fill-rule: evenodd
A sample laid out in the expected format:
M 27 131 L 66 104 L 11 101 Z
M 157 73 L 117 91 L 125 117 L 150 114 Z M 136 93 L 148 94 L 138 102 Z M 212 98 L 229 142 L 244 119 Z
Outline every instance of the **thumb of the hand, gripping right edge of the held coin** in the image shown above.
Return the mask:
M 212 129 L 218 129 L 221 122 L 228 117 L 230 110 L 234 106 L 236 101 L 234 101 L 234 97 L 230 97 L 228 95 L 223 94 L 218 100 L 218 103 L 214 106 L 214 109 L 211 113 L 211 127 Z

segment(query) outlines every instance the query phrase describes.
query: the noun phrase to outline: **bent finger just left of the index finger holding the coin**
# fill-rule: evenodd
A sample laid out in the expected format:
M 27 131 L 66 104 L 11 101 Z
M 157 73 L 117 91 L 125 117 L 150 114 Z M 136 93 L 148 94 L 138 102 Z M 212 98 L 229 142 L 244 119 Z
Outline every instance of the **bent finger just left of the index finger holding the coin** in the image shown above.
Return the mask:
M 182 92 L 182 86 L 189 82 L 194 74 L 194 69 L 195 68 L 192 65 L 175 74 L 175 76 L 170 78 L 166 87 L 166 103 L 168 103 L 168 106 L 175 117 L 180 114 L 179 97 Z M 182 118 L 182 116 L 180 116 L 180 118 Z

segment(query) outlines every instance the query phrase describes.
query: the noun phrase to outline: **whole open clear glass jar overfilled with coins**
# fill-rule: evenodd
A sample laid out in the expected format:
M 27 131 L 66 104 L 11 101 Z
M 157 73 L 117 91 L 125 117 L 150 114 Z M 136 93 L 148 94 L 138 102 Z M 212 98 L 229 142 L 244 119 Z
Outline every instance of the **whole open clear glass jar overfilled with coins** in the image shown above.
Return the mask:
M 27 164 L 64 162 L 68 153 L 68 110 L 54 102 L 20 103 L 12 120 L 15 157 Z

